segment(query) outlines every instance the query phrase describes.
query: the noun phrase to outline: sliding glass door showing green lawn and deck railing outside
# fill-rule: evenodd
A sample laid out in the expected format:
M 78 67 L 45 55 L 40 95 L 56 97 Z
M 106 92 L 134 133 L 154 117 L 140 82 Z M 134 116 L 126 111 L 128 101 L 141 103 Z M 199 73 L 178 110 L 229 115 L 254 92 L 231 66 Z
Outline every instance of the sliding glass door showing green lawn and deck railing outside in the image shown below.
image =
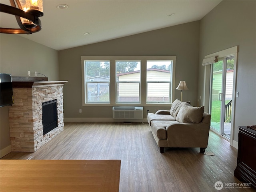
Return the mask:
M 219 59 L 211 66 L 211 129 L 230 138 L 234 57 Z

